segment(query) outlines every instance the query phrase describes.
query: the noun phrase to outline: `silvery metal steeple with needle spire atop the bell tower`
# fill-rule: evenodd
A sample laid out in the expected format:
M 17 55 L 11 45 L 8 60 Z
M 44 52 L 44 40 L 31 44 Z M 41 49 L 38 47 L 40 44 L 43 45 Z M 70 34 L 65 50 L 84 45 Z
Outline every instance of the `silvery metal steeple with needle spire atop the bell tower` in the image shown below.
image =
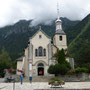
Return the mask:
M 56 33 L 64 33 L 62 30 L 62 21 L 59 16 L 59 6 L 57 3 L 57 20 L 56 20 Z

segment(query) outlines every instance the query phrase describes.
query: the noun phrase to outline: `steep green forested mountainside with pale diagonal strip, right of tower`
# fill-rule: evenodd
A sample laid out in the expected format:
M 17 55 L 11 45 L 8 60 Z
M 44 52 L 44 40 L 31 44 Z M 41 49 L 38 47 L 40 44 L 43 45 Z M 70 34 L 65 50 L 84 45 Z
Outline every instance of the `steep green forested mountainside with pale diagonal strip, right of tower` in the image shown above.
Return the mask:
M 69 44 L 69 52 L 75 60 L 79 62 L 82 58 L 82 61 L 80 61 L 82 63 L 83 56 L 86 56 L 88 62 L 90 62 L 90 14 L 76 26 L 69 29 L 68 34 L 69 42 L 71 42 Z M 85 60 L 86 62 L 87 60 Z

